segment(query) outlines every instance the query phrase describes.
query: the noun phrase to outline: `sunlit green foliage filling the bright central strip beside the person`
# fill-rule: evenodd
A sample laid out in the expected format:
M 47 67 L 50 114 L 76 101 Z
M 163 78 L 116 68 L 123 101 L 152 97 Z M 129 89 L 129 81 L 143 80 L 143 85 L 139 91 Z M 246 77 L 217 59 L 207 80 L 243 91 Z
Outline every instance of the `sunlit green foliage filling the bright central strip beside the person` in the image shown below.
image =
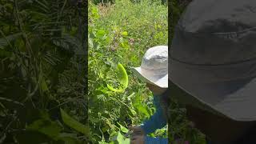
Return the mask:
M 154 114 L 152 94 L 130 68 L 141 64 L 151 46 L 167 45 L 167 6 L 160 1 L 89 2 L 88 15 L 90 140 L 128 142 L 122 136 L 127 126 L 139 125 Z

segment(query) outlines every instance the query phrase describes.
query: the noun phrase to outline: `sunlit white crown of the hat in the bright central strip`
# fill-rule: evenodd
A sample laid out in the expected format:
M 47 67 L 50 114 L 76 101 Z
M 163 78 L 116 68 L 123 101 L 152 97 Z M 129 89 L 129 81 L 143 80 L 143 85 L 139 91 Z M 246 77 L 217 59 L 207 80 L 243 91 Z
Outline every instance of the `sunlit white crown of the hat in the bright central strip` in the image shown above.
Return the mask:
M 154 46 L 146 50 L 141 67 L 146 70 L 168 70 L 168 46 Z

